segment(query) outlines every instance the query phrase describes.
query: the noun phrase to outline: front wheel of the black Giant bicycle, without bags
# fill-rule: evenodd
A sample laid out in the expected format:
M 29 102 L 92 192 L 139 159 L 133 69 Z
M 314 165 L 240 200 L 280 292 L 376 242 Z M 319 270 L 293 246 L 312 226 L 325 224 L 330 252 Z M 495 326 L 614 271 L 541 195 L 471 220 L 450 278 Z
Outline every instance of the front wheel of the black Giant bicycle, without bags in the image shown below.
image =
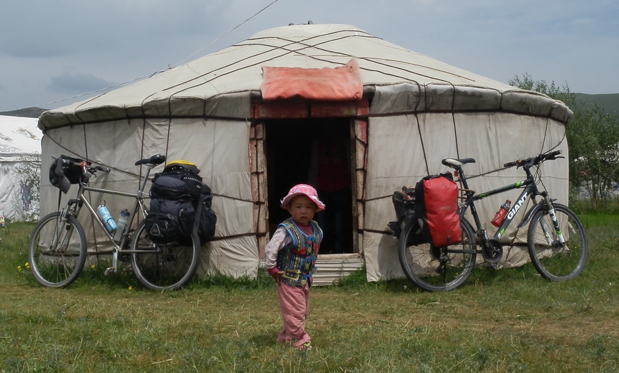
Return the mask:
M 588 244 L 580 219 L 568 206 L 554 204 L 554 215 L 565 242 L 559 242 L 548 212 L 540 210 L 529 224 L 529 256 L 537 272 L 545 279 L 563 281 L 582 272 Z

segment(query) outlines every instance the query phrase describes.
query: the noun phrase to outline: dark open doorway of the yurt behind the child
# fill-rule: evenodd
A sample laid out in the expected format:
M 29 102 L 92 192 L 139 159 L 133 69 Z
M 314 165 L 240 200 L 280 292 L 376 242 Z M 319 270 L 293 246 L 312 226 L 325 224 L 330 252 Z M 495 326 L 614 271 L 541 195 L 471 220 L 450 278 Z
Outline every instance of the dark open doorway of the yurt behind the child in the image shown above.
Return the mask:
M 350 175 L 353 174 L 354 149 L 351 149 L 350 123 L 350 118 L 271 119 L 265 122 L 271 235 L 278 224 L 289 217 L 287 210 L 280 207 L 280 200 L 293 185 L 310 184 L 318 190 L 319 198 L 326 205 L 325 211 L 314 216 L 324 233 L 321 254 L 353 253 Z M 338 140 L 332 141 L 335 138 Z M 333 152 L 332 147 L 337 149 Z M 347 169 L 337 171 L 334 165 L 341 163 L 344 156 Z M 329 166 L 321 167 L 321 164 Z M 316 169 L 321 169 L 320 175 Z M 325 174 L 325 170 L 330 174 Z M 321 183 L 325 188 L 321 188 Z

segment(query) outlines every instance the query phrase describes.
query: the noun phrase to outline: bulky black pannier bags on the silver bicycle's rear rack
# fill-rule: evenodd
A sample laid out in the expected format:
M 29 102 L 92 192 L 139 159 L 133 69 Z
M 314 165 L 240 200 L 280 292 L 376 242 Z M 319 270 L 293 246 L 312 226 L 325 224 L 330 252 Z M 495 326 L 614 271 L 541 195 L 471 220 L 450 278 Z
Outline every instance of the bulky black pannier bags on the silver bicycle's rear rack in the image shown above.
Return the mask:
M 217 214 L 211 210 L 212 192 L 202 183 L 199 172 L 196 165 L 180 160 L 155 174 L 151 209 L 145 222 L 153 242 L 182 242 L 194 229 L 198 230 L 201 244 L 214 235 Z

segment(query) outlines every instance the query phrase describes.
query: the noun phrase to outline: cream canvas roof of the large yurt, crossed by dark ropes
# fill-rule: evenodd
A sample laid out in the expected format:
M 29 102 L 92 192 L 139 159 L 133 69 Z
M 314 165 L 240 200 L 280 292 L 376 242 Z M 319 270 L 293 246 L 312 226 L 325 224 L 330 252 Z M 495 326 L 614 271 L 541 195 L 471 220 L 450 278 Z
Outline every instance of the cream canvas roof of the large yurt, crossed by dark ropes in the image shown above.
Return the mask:
M 364 91 L 368 92 L 376 87 L 404 86 L 420 92 L 457 89 L 466 96 L 467 92 L 482 90 L 494 97 L 495 105 L 511 101 L 508 111 L 536 115 L 539 113 L 532 106 L 546 106 L 552 112 L 549 115 L 560 122 L 567 122 L 572 114 L 560 101 L 536 92 L 518 90 L 409 51 L 355 26 L 307 24 L 256 33 L 226 49 L 143 81 L 47 111 L 40 118 L 39 127 L 45 130 L 134 117 L 207 117 L 213 102 L 221 97 L 248 93 L 260 97 L 262 67 L 339 67 L 351 59 L 357 61 Z M 472 102 L 477 100 L 479 92 L 468 96 L 471 97 L 468 101 Z M 543 108 L 542 112 L 545 110 Z M 244 111 L 235 115 L 239 118 L 245 116 Z

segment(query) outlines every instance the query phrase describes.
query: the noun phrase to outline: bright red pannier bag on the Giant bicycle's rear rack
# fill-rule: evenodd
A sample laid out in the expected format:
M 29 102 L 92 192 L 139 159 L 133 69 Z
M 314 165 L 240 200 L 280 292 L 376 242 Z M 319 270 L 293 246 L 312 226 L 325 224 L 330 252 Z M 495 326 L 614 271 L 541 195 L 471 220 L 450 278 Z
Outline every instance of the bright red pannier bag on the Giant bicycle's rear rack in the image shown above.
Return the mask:
M 425 176 L 415 185 L 415 212 L 421 234 L 435 247 L 461 240 L 458 185 L 451 172 Z

